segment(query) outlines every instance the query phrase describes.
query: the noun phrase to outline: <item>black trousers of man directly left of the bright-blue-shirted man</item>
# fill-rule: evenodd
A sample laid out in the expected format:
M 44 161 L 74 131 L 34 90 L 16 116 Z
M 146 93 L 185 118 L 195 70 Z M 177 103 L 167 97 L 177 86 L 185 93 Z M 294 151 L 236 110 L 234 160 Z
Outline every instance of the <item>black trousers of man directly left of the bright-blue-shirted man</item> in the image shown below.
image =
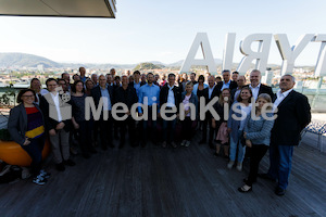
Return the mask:
M 126 132 L 127 132 L 127 128 L 128 128 L 129 141 L 130 141 L 130 144 L 133 145 L 135 143 L 135 136 L 136 136 L 135 135 L 135 132 L 136 132 L 135 131 L 136 130 L 136 122 L 135 122 L 135 119 L 131 117 L 131 115 L 129 115 L 127 119 L 116 122 L 116 124 L 120 127 L 120 136 L 121 136 L 120 142 L 122 144 L 125 143 L 125 141 L 126 141 Z

